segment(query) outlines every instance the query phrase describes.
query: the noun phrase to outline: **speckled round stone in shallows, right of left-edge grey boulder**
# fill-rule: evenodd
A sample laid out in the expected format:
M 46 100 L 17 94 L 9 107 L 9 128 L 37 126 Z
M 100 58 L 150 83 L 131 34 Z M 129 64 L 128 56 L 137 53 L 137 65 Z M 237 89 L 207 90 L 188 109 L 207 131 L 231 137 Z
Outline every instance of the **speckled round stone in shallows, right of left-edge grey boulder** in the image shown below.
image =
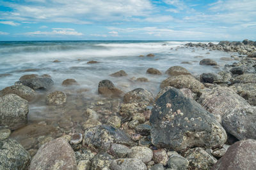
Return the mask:
M 67 95 L 61 91 L 51 92 L 47 95 L 45 102 L 46 104 L 60 105 L 67 101 Z

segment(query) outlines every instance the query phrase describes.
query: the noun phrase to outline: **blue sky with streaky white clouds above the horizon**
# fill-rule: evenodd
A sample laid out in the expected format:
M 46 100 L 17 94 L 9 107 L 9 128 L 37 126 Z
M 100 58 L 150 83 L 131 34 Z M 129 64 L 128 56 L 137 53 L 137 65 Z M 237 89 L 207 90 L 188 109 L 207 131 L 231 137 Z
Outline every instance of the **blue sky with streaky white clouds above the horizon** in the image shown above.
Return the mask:
M 256 1 L 1 0 L 5 40 L 256 40 Z

